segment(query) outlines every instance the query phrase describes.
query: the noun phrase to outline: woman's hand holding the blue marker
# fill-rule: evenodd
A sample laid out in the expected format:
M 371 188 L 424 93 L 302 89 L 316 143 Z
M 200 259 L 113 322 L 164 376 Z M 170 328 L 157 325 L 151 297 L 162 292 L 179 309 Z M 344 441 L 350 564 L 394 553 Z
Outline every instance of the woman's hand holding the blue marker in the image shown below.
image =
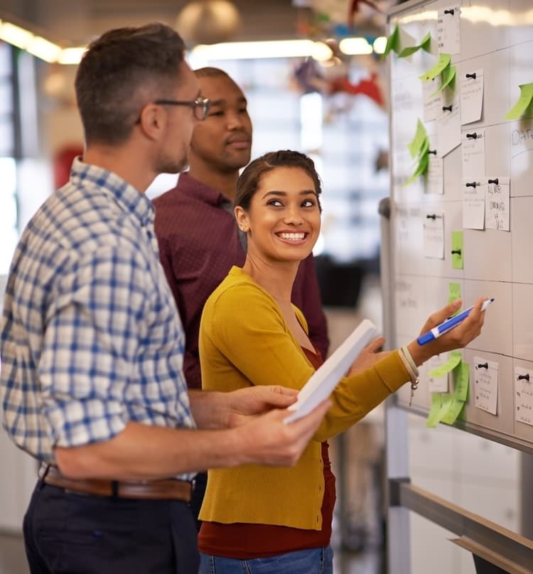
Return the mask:
M 443 333 L 440 337 L 435 340 L 426 343 L 426 345 L 419 345 L 416 340 L 409 343 L 409 352 L 411 357 L 413 357 L 416 365 L 421 365 L 426 362 L 430 357 L 435 354 L 440 354 L 446 351 L 451 351 L 453 349 L 461 349 L 468 345 L 468 343 L 478 337 L 481 332 L 481 327 L 483 327 L 483 322 L 485 321 L 485 311 L 481 310 L 481 305 L 485 303 L 488 297 L 480 297 L 476 300 L 473 309 L 457 327 Z M 422 327 L 421 335 L 429 330 L 433 329 L 437 325 L 440 325 L 449 318 L 451 315 L 456 313 L 461 308 L 461 299 L 456 299 L 451 303 L 448 303 L 446 307 L 441 310 L 432 313 L 424 327 Z

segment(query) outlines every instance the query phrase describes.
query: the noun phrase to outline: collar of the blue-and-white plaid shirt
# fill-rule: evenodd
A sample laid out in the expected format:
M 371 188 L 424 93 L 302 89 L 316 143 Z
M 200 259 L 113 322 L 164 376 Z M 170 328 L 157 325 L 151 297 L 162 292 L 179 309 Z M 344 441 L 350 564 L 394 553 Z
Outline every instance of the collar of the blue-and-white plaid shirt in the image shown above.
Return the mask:
M 144 193 L 116 173 L 84 163 L 80 156 L 72 162 L 70 183 L 73 185 L 90 183 L 101 193 L 111 195 L 124 211 L 135 215 L 142 225 L 154 222 L 154 206 Z

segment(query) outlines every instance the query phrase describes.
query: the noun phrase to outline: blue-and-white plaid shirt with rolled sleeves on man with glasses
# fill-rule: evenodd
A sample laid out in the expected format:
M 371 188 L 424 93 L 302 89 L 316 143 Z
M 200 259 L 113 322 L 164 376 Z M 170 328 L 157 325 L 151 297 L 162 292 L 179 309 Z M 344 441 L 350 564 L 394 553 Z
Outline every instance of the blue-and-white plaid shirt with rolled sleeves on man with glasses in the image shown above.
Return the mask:
M 4 427 L 39 460 L 128 421 L 195 426 L 154 208 L 117 175 L 74 161 L 22 234 L 0 326 Z

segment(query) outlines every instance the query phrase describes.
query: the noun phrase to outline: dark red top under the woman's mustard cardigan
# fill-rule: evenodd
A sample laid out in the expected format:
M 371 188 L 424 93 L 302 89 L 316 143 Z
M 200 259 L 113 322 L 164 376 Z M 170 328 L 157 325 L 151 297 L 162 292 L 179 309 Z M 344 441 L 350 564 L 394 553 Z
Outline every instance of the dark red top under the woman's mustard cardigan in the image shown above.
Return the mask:
M 302 349 L 313 367 L 318 369 L 323 363 L 320 354 L 315 354 L 304 347 Z M 335 506 L 335 477 L 331 472 L 326 441 L 322 443 L 322 460 L 324 498 L 321 507 L 321 530 L 297 529 L 272 524 L 203 522 L 198 535 L 200 551 L 212 556 L 245 560 L 328 546 Z

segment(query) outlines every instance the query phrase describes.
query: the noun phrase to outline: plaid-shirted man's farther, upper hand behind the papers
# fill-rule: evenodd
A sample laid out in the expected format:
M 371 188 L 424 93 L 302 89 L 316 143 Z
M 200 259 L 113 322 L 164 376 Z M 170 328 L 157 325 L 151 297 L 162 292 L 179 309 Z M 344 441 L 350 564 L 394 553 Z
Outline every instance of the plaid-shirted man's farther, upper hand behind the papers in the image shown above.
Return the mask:
M 242 425 L 251 417 L 272 408 L 286 408 L 296 401 L 298 391 L 285 386 L 250 386 L 226 393 L 227 427 Z

